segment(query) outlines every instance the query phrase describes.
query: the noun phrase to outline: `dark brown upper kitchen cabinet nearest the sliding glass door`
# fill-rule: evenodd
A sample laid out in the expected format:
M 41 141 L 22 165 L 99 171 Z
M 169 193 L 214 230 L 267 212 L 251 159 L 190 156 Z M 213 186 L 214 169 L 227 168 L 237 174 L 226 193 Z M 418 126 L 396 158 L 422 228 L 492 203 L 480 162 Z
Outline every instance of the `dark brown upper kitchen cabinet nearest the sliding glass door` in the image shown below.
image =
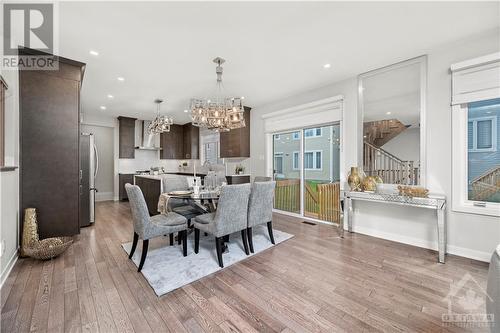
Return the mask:
M 250 110 L 245 106 L 243 128 L 220 133 L 220 157 L 250 157 Z

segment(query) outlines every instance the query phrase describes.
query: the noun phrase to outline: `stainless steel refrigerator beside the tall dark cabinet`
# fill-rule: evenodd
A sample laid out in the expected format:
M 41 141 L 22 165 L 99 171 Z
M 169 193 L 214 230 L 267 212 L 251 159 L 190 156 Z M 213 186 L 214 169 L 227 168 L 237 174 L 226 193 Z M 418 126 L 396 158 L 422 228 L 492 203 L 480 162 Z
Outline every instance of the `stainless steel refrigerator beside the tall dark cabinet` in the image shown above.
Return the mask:
M 92 133 L 80 135 L 80 227 L 95 222 L 95 179 L 99 170 L 99 154 Z

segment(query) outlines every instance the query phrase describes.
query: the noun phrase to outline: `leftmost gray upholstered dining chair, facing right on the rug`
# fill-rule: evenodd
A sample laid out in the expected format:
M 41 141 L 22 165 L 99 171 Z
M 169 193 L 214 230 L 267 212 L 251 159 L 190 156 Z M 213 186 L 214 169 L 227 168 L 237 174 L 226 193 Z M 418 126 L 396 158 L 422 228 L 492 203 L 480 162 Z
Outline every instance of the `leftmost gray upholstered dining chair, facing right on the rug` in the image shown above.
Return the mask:
M 125 190 L 129 198 L 132 220 L 134 222 L 134 241 L 132 243 L 130 255 L 128 256 L 129 259 L 132 259 L 139 238 L 142 239 L 141 261 L 137 271 L 140 272 L 144 266 L 148 254 L 149 240 L 151 238 L 178 232 L 179 236 L 182 236 L 183 239 L 183 255 L 184 257 L 187 256 L 186 218 L 173 212 L 150 217 L 146 200 L 144 200 L 144 195 L 140 187 L 137 185 L 125 184 Z

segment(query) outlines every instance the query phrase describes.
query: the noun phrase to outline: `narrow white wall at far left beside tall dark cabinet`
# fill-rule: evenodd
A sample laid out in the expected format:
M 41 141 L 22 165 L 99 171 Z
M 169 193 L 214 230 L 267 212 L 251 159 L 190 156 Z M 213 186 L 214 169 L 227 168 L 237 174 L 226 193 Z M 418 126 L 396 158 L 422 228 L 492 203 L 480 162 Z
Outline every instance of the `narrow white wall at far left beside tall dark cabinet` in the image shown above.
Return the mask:
M 17 71 L 2 71 L 5 99 L 5 165 L 19 166 L 19 84 Z M 19 169 L 0 172 L 0 285 L 17 259 L 19 247 Z

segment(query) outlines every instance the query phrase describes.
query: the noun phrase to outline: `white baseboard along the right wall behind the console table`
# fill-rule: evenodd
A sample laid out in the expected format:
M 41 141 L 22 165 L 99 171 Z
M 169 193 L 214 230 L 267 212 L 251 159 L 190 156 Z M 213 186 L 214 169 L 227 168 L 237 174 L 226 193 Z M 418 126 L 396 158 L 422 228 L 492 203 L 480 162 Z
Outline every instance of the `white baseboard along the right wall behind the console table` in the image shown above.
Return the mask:
M 380 230 L 366 228 L 366 227 L 360 227 L 360 226 L 357 226 L 357 227 L 353 226 L 352 230 L 354 232 L 357 232 L 357 233 L 360 233 L 363 235 L 387 239 L 387 240 L 390 240 L 393 242 L 413 245 L 413 246 L 417 246 L 417 247 L 422 247 L 424 249 L 431 249 L 431 250 L 437 251 L 437 248 L 438 248 L 437 242 L 431 242 L 431 241 L 428 241 L 425 239 L 408 237 L 408 236 L 404 236 L 401 234 L 393 234 L 393 233 L 389 233 L 389 232 L 385 232 L 385 231 L 380 231 Z M 469 258 L 469 259 L 484 261 L 484 262 L 489 262 L 491 259 L 491 253 L 477 251 L 477 250 L 468 249 L 468 248 L 459 247 L 459 246 L 454 246 L 454 245 L 447 245 L 446 246 L 446 253 L 454 254 L 454 255 Z

